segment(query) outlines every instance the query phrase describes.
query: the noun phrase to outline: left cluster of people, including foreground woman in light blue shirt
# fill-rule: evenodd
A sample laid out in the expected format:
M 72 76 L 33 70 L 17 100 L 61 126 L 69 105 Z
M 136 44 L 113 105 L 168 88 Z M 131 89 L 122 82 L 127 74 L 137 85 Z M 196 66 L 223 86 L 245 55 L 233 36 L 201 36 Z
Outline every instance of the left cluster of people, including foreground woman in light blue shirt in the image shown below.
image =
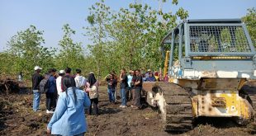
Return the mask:
M 76 69 L 76 75 L 71 75 L 71 68 L 60 70 L 59 73 L 51 68 L 44 76 L 40 75 L 41 69 L 36 66 L 32 75 L 33 110 L 40 111 L 40 95 L 45 92 L 46 113 L 54 114 L 47 125 L 47 132 L 84 135 L 87 131 L 85 108 L 88 115 L 92 115 L 92 107 L 93 114 L 98 114 L 98 82 L 94 73 L 89 73 L 87 80 L 81 75 L 80 69 Z

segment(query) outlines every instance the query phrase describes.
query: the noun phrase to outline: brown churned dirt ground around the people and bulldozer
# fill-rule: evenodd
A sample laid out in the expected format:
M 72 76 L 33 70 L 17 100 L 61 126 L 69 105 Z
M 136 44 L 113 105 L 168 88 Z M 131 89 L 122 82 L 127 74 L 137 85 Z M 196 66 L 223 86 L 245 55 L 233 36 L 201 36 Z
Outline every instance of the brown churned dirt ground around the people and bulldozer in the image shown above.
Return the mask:
M 0 135 L 46 135 L 51 115 L 45 113 L 45 95 L 41 96 L 40 112 L 32 110 L 32 94 L 0 96 Z M 128 102 L 130 106 L 131 101 Z M 108 102 L 106 87 L 100 87 L 100 115 L 87 116 L 86 135 L 256 135 L 256 125 L 238 126 L 228 119 L 203 119 L 188 132 L 171 134 L 161 128 L 157 110 L 119 108 Z

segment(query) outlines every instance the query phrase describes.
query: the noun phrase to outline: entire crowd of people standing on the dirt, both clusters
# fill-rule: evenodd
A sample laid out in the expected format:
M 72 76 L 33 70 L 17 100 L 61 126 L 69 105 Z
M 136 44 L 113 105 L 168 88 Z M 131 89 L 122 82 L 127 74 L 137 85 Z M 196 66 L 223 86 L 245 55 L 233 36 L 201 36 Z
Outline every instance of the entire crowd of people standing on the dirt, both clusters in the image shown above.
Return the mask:
M 56 73 L 51 68 L 44 76 L 40 75 L 42 68 L 36 66 L 32 76 L 32 90 L 34 93 L 33 110 L 40 111 L 40 95 L 45 92 L 46 113 L 54 114 L 47 125 L 47 132 L 59 135 L 83 135 L 87 131 L 84 110 L 88 115 L 98 115 L 98 85 L 94 73 L 88 74 L 88 79 L 76 69 L 71 75 L 71 68 L 65 68 Z M 121 108 L 126 108 L 127 101 L 132 100 L 132 108 L 140 109 L 140 94 L 142 82 L 154 82 L 157 78 L 149 70 L 145 75 L 140 69 L 130 70 L 122 68 L 119 76 L 111 72 L 105 77 L 109 101 L 116 104 L 117 82 L 120 82 Z M 62 126 L 62 127 L 59 127 Z

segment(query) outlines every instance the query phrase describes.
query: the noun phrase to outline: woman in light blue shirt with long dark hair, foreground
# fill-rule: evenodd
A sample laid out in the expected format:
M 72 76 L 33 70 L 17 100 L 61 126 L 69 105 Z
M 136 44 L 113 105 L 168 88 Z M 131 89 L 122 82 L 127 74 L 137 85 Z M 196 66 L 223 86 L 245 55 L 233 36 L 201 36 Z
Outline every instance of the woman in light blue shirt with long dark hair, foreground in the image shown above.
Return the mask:
M 56 135 L 84 135 L 87 131 L 84 107 L 90 106 L 90 99 L 86 92 L 75 88 L 73 77 L 63 77 L 62 83 L 67 89 L 59 95 L 47 132 Z

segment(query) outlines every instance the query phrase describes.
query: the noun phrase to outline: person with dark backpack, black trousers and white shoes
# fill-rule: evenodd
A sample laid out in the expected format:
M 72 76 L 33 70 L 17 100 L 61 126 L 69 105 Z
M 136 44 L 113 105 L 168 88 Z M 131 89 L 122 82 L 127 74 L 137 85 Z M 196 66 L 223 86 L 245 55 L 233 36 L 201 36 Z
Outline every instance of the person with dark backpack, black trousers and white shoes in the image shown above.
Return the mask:
M 50 69 L 50 77 L 47 81 L 48 91 L 46 92 L 46 113 L 52 114 L 54 113 L 53 109 L 56 107 L 56 99 L 57 99 L 57 87 L 56 87 L 56 79 L 55 79 L 56 69 Z

